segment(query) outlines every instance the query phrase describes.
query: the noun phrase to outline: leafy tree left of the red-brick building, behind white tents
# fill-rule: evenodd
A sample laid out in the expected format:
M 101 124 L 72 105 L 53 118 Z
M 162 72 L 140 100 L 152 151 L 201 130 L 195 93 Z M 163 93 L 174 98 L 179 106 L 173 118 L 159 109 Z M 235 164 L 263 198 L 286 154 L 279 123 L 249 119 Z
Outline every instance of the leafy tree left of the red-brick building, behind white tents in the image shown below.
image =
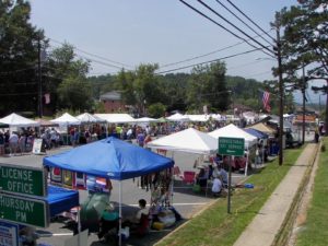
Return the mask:
M 86 80 L 90 62 L 78 59 L 74 47 L 63 44 L 49 55 L 45 63 L 43 91 L 51 95 L 52 110 L 71 108 L 90 110 L 92 87 Z

